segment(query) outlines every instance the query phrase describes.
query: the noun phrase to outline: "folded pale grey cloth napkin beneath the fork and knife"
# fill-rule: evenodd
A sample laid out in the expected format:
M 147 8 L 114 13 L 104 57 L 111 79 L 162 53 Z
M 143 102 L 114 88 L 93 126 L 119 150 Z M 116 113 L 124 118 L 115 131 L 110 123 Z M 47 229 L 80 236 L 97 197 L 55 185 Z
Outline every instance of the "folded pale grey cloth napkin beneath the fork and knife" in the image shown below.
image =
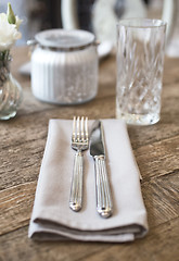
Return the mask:
M 148 232 L 139 169 L 126 124 L 102 120 L 113 215 L 102 219 L 95 209 L 94 164 L 89 150 L 84 158 L 82 209 L 68 207 L 75 151 L 71 148 L 72 121 L 50 120 L 28 236 L 38 240 L 130 241 Z M 91 128 L 93 121 L 89 121 Z

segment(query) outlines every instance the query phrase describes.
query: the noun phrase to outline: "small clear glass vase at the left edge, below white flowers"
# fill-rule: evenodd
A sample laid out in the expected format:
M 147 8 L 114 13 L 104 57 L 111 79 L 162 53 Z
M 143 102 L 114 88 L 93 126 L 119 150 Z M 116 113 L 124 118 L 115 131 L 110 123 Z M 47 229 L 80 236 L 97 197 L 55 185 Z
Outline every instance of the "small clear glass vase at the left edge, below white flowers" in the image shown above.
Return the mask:
M 22 102 L 22 88 L 10 72 L 10 51 L 0 51 L 0 120 L 16 115 Z

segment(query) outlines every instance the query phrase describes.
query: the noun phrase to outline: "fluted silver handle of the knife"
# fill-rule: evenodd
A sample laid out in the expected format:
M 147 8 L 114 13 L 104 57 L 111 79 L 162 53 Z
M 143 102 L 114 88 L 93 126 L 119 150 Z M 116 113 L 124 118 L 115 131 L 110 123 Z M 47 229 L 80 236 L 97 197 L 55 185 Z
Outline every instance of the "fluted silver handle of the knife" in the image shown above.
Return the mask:
M 105 157 L 94 157 L 95 166 L 95 189 L 97 189 L 97 211 L 102 217 L 112 215 L 112 196 L 107 177 Z

